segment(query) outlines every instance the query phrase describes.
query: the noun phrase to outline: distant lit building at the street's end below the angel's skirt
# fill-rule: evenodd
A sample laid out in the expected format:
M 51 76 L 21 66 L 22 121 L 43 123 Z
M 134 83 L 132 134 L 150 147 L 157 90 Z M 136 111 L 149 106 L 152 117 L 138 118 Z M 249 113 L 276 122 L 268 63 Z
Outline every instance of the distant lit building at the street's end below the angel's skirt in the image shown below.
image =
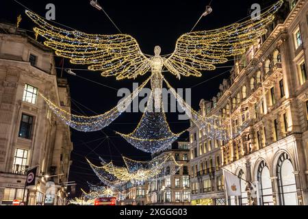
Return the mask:
M 190 165 L 189 142 L 177 142 L 177 146 L 154 155 L 156 157 L 172 155 L 177 164 L 182 165 L 175 172 L 177 166 L 166 166 L 161 176 L 149 181 L 146 192 L 148 205 L 190 205 Z M 175 172 L 175 174 L 173 174 Z

